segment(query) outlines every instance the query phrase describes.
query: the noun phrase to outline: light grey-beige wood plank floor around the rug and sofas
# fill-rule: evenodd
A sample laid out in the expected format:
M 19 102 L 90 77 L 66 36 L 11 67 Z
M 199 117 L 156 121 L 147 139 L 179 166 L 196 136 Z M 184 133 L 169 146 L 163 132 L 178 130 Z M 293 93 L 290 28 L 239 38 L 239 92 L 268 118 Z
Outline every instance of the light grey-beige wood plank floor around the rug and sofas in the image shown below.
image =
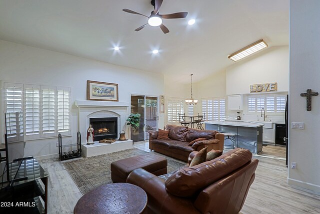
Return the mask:
M 148 142 L 136 142 L 134 147 L 150 151 Z M 319 195 L 287 184 L 283 157 L 285 148 L 271 145 L 263 146 L 263 152 L 254 155 L 259 164 L 240 213 L 320 213 Z M 49 173 L 48 213 L 73 213 L 73 207 L 82 193 L 57 158 L 39 162 Z

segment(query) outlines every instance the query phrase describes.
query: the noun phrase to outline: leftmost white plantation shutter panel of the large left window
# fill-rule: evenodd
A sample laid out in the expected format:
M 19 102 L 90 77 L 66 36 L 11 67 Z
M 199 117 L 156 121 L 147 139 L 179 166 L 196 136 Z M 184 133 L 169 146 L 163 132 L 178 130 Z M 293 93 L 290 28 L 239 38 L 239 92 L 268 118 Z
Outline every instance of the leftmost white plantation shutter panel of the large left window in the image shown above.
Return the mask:
M 11 141 L 19 139 L 18 132 L 23 135 L 22 88 L 22 84 L 4 84 L 6 134 Z

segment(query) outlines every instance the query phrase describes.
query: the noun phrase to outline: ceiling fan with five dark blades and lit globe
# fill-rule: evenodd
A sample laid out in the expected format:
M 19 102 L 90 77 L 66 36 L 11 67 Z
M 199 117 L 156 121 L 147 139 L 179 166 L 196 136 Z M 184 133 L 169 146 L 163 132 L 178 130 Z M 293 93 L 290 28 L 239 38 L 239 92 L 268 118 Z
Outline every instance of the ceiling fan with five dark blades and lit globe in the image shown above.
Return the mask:
M 137 14 L 137 15 L 141 15 L 144 16 L 146 18 L 148 18 L 148 23 L 142 25 L 141 27 L 138 27 L 137 29 L 135 29 L 134 31 L 140 31 L 142 28 L 144 28 L 146 25 L 150 25 L 152 27 L 157 27 L 159 26 L 160 29 L 162 30 L 162 32 L 164 34 L 169 33 L 169 29 L 167 29 L 167 27 L 165 27 L 162 24 L 162 19 L 180 19 L 180 18 L 185 18 L 188 13 L 187 12 L 179 12 L 179 13 L 174 13 L 174 14 L 163 14 L 160 15 L 159 9 L 162 5 L 163 0 L 151 0 L 151 5 L 154 7 L 154 10 L 151 12 L 151 15 L 149 17 L 143 15 L 143 14 L 139 14 L 137 12 L 131 11 L 129 9 L 123 9 L 122 11 L 126 12 L 126 13 L 130 13 L 130 14 Z

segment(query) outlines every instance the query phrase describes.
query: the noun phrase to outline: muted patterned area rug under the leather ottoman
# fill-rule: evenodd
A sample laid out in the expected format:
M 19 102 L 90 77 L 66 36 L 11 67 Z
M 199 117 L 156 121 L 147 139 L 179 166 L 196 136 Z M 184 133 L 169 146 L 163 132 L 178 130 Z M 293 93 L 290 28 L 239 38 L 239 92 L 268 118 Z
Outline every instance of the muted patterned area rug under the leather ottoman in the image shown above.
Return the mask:
M 137 148 L 125 149 L 109 154 L 67 161 L 62 164 L 80 191 L 85 194 L 102 184 L 112 183 L 110 171 L 111 162 L 146 153 L 149 152 Z M 168 159 L 167 171 L 177 170 L 181 166 L 183 166 L 183 164 Z

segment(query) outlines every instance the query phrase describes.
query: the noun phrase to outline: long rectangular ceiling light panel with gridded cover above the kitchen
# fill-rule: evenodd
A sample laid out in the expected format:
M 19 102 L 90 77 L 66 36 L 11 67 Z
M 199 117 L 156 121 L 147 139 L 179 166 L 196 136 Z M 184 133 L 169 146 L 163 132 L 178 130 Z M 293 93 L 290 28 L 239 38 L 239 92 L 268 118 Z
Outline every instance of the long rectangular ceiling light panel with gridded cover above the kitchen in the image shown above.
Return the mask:
M 242 48 L 241 50 L 234 52 L 233 54 L 229 55 L 228 58 L 236 62 L 266 47 L 268 47 L 268 45 L 263 40 L 259 40 Z

